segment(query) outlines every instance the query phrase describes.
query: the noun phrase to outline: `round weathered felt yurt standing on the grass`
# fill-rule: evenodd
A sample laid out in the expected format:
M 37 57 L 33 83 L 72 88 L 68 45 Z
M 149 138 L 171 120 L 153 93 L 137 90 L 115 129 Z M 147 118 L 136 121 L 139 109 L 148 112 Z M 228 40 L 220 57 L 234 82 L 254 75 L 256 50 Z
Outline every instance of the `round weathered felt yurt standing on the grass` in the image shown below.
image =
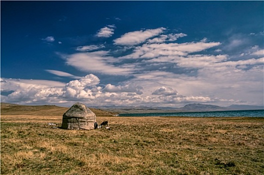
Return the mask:
M 63 129 L 93 129 L 96 122 L 95 114 L 84 104 L 73 104 L 62 116 Z

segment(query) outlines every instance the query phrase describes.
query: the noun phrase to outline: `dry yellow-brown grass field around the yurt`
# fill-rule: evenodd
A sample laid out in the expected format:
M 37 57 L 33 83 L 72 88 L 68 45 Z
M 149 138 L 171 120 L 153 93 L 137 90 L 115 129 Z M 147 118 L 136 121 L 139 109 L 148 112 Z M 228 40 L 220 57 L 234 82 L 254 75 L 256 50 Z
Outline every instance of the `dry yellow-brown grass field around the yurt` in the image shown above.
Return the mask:
M 264 118 L 1 115 L 1 174 L 264 174 Z

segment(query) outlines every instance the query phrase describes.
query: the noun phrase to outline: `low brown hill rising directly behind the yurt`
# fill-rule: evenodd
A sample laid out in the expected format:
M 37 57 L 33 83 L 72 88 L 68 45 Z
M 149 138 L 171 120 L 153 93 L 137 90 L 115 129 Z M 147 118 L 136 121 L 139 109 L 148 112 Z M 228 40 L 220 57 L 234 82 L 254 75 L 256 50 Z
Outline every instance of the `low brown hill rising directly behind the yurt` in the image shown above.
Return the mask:
M 112 116 L 116 113 L 89 108 L 96 116 Z M 68 107 L 60 107 L 56 105 L 18 105 L 1 102 L 1 115 L 39 115 L 39 116 L 57 116 L 63 115 Z

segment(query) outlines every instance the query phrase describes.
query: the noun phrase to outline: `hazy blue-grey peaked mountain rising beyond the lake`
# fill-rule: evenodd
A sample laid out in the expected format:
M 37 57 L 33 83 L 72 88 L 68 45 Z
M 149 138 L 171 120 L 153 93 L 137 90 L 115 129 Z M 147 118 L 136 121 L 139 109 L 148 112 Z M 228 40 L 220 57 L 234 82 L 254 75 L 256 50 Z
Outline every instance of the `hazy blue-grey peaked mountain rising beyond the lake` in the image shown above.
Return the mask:
M 184 111 L 228 110 L 226 107 L 220 107 L 218 105 L 211 105 L 211 104 L 200 104 L 200 103 L 186 104 L 185 106 L 180 107 L 179 109 Z

